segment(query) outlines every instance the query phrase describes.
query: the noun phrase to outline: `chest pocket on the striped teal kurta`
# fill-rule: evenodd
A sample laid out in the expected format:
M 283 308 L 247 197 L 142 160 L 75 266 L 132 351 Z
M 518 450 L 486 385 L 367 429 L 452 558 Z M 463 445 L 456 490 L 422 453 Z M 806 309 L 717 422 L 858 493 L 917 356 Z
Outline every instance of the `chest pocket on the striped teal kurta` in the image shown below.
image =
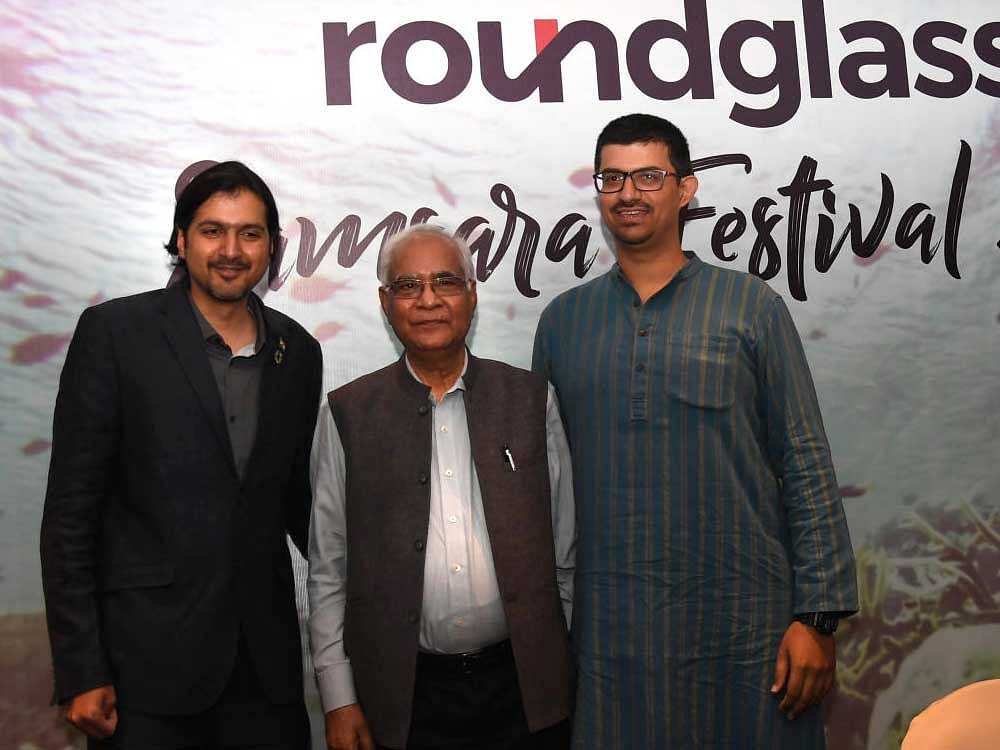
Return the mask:
M 736 341 L 687 334 L 670 340 L 667 392 L 702 409 L 728 409 L 736 400 Z

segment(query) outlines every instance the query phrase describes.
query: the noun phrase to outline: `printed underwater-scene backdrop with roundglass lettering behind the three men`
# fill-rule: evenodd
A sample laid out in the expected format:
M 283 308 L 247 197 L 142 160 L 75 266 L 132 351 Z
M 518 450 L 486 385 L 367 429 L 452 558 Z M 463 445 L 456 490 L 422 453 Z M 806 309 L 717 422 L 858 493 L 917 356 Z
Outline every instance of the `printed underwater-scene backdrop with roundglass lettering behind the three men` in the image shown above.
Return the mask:
M 993 0 L 0 0 L 0 747 L 75 741 L 46 706 L 37 553 L 55 391 L 84 307 L 166 282 L 185 169 L 271 185 L 266 300 L 328 386 L 397 356 L 375 261 L 413 221 L 471 236 L 472 347 L 526 365 L 544 305 L 614 262 L 593 144 L 633 111 L 691 141 L 685 248 L 767 278 L 805 341 L 863 607 L 831 747 L 896 747 L 1000 677 Z

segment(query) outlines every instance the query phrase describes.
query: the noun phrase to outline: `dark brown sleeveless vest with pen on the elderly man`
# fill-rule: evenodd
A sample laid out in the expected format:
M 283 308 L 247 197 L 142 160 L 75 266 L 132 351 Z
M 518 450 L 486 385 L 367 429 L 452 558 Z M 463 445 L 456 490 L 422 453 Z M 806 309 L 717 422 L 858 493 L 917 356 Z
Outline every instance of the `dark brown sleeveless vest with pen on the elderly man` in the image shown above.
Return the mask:
M 569 716 L 573 663 L 552 539 L 545 380 L 469 355 L 472 458 L 531 731 Z M 344 648 L 380 744 L 409 734 L 430 516 L 430 389 L 395 364 L 330 393 L 344 446 Z M 511 471 L 504 448 L 515 457 Z

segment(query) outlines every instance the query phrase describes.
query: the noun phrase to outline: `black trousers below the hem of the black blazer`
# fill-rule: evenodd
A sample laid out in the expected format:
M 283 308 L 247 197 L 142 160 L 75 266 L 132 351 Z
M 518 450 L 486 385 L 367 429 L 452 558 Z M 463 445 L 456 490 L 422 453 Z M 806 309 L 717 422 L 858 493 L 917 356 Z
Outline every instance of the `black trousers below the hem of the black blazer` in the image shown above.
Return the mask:
M 305 703 L 274 704 L 264 694 L 242 634 L 219 700 L 198 714 L 156 716 L 118 707 L 118 726 L 89 750 L 308 750 Z

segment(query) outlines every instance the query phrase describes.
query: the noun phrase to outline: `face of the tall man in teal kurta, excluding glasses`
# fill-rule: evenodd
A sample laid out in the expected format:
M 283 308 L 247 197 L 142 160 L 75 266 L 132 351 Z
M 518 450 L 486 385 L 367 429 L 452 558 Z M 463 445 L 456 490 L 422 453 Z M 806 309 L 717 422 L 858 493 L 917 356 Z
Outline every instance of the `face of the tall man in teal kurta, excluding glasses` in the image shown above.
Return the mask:
M 632 172 L 654 168 L 676 172 L 664 143 L 608 144 L 601 149 L 600 170 Z M 631 178 L 618 193 L 598 193 L 601 218 L 619 253 L 680 252 L 681 209 L 694 197 L 698 180 L 668 176 L 659 190 L 636 190 Z

